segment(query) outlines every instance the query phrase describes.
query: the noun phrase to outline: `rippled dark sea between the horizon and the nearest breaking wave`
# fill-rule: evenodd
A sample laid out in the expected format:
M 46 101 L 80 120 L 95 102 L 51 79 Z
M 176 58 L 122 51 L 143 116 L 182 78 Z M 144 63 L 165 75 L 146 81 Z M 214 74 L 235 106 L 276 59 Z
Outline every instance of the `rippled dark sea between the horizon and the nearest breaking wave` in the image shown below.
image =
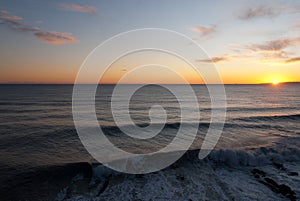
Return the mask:
M 298 136 L 299 86 L 226 85 L 227 118 L 216 149 L 253 149 L 277 143 L 283 137 Z M 27 191 L 26 188 L 19 188 L 20 185 L 30 186 L 34 183 L 38 186 L 41 181 L 38 178 L 33 181 L 32 175 L 44 178 L 52 175 L 53 171 L 61 171 L 58 167 L 66 164 L 94 161 L 82 146 L 74 127 L 72 87 L 0 85 L 0 185 L 4 186 L 1 194 L 9 196 L 12 192 L 18 194 Z M 99 124 L 112 142 L 130 152 L 148 153 L 164 147 L 173 139 L 180 126 L 181 113 L 172 93 L 157 85 L 149 85 L 138 90 L 132 97 L 130 114 L 133 121 L 141 127 L 150 123 L 149 108 L 153 105 L 161 105 L 168 114 L 167 124 L 158 137 L 138 141 L 128 138 L 113 121 L 110 110 L 113 87 L 101 86 L 96 96 Z M 182 85 L 176 87 L 184 89 Z M 201 146 L 201 140 L 209 126 L 211 108 L 206 87 L 193 85 L 193 89 L 199 101 L 201 118 L 196 119 L 191 112 L 188 121 L 184 123 L 199 124 L 197 139 L 191 147 L 196 149 Z M 182 91 L 182 95 L 189 100 L 189 94 Z M 118 105 L 118 109 L 126 111 L 122 103 Z M 128 122 L 124 119 L 121 124 L 126 127 Z M 187 135 L 188 133 L 186 130 Z M 69 167 L 73 168 L 78 166 Z M 43 173 L 37 173 L 41 171 Z M 52 182 L 56 183 L 55 180 Z M 46 185 L 47 188 L 49 185 Z M 12 190 L 13 188 L 18 190 Z

